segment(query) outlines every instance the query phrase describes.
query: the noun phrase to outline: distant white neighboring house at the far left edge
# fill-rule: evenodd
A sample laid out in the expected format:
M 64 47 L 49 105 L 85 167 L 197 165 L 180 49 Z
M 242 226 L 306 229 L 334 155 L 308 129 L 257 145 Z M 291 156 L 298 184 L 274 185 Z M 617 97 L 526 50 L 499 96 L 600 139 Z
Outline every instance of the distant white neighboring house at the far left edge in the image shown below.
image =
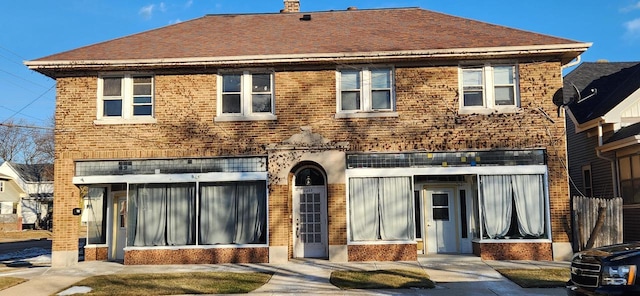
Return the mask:
M 20 192 L 26 193 L 20 195 L 16 208 L 23 228 L 36 227 L 38 218 L 44 218 L 53 206 L 53 165 L 5 161 L 0 165 L 0 175 L 11 178 Z

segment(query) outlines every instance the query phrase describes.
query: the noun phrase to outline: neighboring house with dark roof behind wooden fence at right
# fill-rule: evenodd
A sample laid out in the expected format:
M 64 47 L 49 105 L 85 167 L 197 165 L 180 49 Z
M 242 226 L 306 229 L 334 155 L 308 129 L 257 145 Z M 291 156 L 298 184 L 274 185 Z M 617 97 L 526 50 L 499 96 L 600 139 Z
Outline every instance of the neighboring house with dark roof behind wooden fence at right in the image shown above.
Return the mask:
M 640 63 L 582 63 L 566 75 L 571 194 L 623 198 L 623 240 L 640 240 Z

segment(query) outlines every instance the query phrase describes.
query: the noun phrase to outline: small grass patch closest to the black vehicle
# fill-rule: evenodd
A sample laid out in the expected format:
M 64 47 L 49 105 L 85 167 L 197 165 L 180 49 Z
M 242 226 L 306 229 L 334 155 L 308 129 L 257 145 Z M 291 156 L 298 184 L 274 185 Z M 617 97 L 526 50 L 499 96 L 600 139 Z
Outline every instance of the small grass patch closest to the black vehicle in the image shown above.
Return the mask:
M 571 277 L 569 269 L 496 269 L 504 277 L 523 288 L 565 287 Z

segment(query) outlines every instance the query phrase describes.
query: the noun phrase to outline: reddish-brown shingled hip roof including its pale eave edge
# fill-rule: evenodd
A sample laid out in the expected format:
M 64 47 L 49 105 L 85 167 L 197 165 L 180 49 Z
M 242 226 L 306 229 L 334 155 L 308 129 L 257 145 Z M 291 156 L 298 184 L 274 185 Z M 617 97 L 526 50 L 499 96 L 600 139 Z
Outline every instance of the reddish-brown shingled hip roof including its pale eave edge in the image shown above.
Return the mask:
M 455 56 L 553 52 L 568 62 L 590 44 L 420 8 L 207 15 L 29 61 L 37 71 L 133 64 Z M 500 50 L 496 50 L 499 48 Z M 46 73 L 45 73 L 46 74 Z

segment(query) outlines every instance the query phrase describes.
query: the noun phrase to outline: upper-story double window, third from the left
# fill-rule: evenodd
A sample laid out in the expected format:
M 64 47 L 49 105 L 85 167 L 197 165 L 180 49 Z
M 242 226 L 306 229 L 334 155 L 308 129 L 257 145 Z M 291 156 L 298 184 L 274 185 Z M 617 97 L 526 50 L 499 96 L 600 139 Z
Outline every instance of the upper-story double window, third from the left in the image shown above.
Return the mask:
M 338 113 L 395 111 L 392 68 L 342 69 L 337 84 Z

